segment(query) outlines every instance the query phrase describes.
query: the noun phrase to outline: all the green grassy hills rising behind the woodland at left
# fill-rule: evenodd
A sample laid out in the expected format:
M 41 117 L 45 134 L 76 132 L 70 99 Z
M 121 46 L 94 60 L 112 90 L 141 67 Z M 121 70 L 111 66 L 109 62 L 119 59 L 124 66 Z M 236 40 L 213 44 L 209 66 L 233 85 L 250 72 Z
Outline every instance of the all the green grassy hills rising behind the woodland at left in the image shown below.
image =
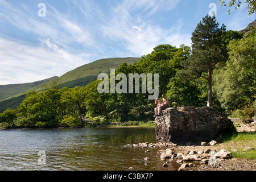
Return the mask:
M 61 86 L 74 88 L 89 84 L 100 73 L 110 73 L 110 69 L 117 69 L 122 63 L 133 64 L 139 59 L 139 57 L 101 59 L 73 69 L 61 77 L 52 77 L 30 84 L 0 85 L 0 113 L 8 108 L 16 109 L 28 92 L 45 90 L 49 82 L 55 78 L 59 80 Z

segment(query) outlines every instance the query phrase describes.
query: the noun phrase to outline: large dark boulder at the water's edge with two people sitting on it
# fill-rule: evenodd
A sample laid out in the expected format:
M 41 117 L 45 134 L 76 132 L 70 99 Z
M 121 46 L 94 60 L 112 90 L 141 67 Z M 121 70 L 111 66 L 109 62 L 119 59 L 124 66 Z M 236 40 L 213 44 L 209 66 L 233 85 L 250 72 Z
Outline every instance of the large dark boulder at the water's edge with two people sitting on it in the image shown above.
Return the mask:
M 162 110 L 155 123 L 158 142 L 177 144 L 209 142 L 234 128 L 225 114 L 210 107 L 170 107 Z

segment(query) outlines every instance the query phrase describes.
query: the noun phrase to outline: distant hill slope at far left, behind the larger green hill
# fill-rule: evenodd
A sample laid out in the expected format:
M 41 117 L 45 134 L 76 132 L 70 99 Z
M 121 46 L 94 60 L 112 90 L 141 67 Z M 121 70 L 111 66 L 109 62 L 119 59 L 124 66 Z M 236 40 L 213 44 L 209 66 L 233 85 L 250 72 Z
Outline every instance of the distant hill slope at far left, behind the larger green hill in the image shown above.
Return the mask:
M 34 88 L 35 86 L 41 85 L 45 82 L 51 81 L 55 78 L 56 76 L 26 84 L 0 85 L 0 101 L 15 96 L 16 94 L 22 93 L 28 89 Z

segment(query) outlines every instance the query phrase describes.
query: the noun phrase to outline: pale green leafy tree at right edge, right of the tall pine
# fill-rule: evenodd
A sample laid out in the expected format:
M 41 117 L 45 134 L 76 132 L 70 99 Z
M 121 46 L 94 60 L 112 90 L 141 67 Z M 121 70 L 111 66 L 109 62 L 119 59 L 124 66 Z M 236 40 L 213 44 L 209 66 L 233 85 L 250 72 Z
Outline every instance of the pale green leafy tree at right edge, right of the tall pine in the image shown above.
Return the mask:
M 227 111 L 253 105 L 256 94 L 256 29 L 228 45 L 229 60 L 214 71 L 214 92 Z

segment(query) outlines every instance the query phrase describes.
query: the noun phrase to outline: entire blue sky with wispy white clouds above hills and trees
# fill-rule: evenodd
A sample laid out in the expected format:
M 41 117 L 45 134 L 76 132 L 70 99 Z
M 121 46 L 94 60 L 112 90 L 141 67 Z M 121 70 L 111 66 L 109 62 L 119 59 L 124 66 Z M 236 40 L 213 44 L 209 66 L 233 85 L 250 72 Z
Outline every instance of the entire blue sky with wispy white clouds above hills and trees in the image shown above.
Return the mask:
M 160 44 L 191 46 L 197 23 L 216 11 L 227 30 L 255 15 L 218 0 L 0 0 L 0 85 L 61 76 L 110 57 L 141 57 Z

